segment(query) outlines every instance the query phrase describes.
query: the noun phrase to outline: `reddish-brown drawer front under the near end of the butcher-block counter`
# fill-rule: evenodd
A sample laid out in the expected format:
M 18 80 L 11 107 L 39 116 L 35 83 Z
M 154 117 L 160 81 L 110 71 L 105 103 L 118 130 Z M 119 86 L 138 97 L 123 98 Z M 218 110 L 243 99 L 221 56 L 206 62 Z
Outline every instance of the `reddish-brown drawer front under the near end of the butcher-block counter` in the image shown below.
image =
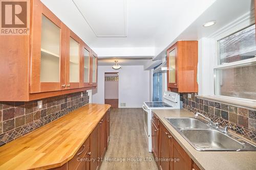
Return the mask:
M 90 152 L 90 138 L 88 138 L 82 146 L 79 148 L 75 156 L 69 161 L 69 170 L 75 170 L 79 166 L 81 161 L 78 161 L 79 159 L 82 159 L 84 155 L 87 154 L 87 152 Z

